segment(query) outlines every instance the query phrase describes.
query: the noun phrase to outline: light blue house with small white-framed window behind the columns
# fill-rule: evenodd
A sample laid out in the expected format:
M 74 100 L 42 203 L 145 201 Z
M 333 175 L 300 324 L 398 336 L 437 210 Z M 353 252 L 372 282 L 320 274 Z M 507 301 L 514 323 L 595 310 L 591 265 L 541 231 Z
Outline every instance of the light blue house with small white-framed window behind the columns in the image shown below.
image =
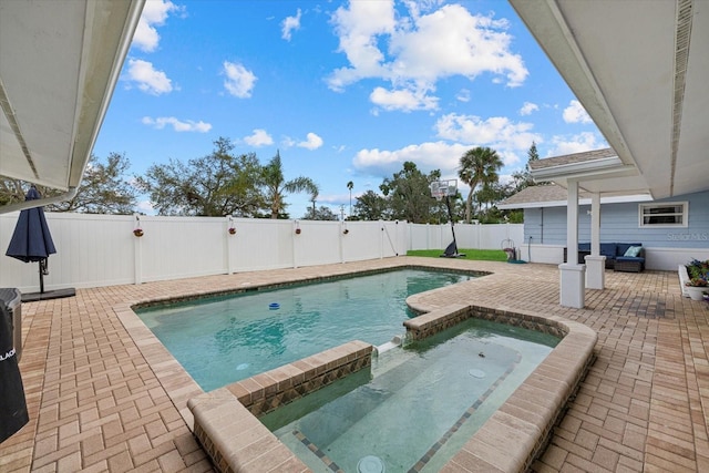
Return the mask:
M 534 169 L 586 163 L 613 156 L 598 150 L 540 160 Z M 579 189 L 578 241 L 592 240 L 593 193 Z M 523 259 L 564 263 L 567 191 L 548 184 L 527 187 L 499 204 L 502 209 L 524 210 Z M 599 243 L 641 243 L 646 269 L 676 270 L 691 258 L 709 258 L 709 191 L 653 199 L 649 194 L 600 196 Z

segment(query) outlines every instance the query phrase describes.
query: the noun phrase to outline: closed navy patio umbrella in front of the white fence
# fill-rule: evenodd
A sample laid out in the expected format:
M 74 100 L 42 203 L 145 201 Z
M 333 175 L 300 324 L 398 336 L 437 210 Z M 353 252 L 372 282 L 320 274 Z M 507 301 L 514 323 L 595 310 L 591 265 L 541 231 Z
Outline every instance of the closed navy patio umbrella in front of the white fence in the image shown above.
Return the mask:
M 25 200 L 40 198 L 40 193 L 34 186 L 27 193 Z M 40 291 L 44 291 L 44 278 L 47 273 L 47 258 L 56 253 L 52 235 L 49 232 L 43 207 L 27 208 L 20 212 L 20 217 L 6 251 L 7 256 L 24 263 L 40 263 Z

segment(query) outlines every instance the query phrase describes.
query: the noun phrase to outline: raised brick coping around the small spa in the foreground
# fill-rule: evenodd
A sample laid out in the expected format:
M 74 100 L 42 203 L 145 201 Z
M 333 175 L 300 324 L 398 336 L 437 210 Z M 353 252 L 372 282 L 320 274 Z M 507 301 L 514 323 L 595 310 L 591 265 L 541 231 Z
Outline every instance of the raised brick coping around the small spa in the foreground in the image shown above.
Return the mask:
M 417 333 L 413 338 L 422 339 L 471 317 L 563 336 L 546 359 L 442 470 L 525 471 L 544 451 L 554 425 L 593 362 L 597 336 L 588 327 L 557 316 L 462 304 L 432 310 L 407 320 L 404 326 L 408 333 Z M 306 385 L 308 378 L 335 373 L 340 367 L 348 367 L 342 370 L 347 376 L 356 371 L 353 366 L 358 369 L 369 366 L 371 353 L 372 347 L 368 343 L 348 342 L 193 398 L 188 408 L 194 415 L 195 435 L 223 472 L 309 471 L 255 413 L 277 407 L 282 400 L 278 394 L 281 388 Z M 316 382 L 314 390 L 339 378 L 333 374 L 327 382 Z M 268 392 L 277 402 L 265 402 Z M 261 409 L 265 404 L 268 408 Z

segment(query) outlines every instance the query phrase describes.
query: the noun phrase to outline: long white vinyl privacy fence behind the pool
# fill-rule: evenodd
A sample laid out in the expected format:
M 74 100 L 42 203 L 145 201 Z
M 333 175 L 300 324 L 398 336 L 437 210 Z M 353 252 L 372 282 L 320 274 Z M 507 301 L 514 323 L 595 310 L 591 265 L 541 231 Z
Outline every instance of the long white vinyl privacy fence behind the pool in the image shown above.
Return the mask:
M 4 256 L 18 215 L 0 214 L 0 287 L 32 292 L 38 264 Z M 379 259 L 452 241 L 450 225 L 404 222 L 45 215 L 56 246 L 45 290 Z M 522 241 L 523 226 L 456 225 L 455 236 L 459 248 L 497 249 L 505 239 Z

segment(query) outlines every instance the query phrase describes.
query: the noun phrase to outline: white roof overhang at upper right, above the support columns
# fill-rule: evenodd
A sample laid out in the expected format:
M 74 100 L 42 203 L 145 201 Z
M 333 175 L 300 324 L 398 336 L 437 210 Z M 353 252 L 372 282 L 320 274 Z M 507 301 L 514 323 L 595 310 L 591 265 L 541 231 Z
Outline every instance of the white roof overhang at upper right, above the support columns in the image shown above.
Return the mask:
M 510 1 L 619 162 L 636 169 L 557 167 L 545 178 L 654 198 L 709 189 L 709 2 Z

